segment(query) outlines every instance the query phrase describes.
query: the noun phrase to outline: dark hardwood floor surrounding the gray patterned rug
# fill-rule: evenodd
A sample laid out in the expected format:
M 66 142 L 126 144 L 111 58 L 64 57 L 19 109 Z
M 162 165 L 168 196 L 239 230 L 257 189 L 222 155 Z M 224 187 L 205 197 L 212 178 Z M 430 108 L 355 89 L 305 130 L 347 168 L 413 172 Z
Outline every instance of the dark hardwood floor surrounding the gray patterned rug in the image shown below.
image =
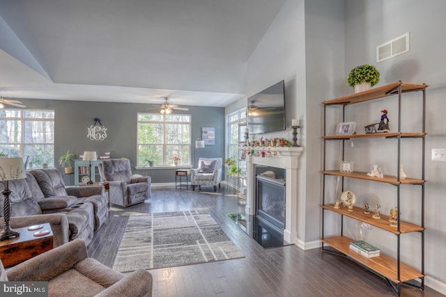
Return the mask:
M 210 192 L 205 192 L 205 191 Z M 231 221 L 228 214 L 245 205 L 224 186 L 192 192 L 175 186 L 154 186 L 149 204 L 112 205 L 107 222 L 89 245 L 89 256 L 112 267 L 128 216 L 206 208 L 245 258 L 208 264 L 152 269 L 153 297 L 164 296 L 394 296 L 385 280 L 344 257 L 303 251 L 297 246 L 263 249 Z M 401 296 L 443 296 L 402 286 Z

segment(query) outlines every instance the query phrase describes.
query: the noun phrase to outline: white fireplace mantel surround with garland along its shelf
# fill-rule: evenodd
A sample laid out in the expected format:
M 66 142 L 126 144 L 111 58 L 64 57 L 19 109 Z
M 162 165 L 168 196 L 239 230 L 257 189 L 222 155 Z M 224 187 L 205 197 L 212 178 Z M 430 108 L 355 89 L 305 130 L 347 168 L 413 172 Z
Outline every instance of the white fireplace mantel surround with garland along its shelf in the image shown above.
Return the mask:
M 240 150 L 249 150 L 252 147 L 240 147 Z M 254 152 L 268 152 L 268 147 L 254 147 Z M 276 151 L 274 156 L 273 152 Z M 256 211 L 256 177 L 255 166 L 271 166 L 283 168 L 286 171 L 285 176 L 285 228 L 284 240 L 289 243 L 295 243 L 297 239 L 298 222 L 298 161 L 303 147 L 270 147 L 270 156 L 266 153 L 264 157 L 255 154 L 247 155 L 247 199 L 245 212 L 249 215 L 255 215 Z

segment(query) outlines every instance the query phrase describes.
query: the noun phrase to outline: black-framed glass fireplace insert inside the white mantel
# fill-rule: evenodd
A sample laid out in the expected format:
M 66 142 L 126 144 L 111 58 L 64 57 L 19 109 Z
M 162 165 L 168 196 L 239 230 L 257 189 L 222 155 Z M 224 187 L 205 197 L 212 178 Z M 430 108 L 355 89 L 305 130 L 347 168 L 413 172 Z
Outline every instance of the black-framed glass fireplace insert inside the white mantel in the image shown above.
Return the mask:
M 262 175 L 256 176 L 256 216 L 267 220 L 279 230 L 285 227 L 285 182 Z

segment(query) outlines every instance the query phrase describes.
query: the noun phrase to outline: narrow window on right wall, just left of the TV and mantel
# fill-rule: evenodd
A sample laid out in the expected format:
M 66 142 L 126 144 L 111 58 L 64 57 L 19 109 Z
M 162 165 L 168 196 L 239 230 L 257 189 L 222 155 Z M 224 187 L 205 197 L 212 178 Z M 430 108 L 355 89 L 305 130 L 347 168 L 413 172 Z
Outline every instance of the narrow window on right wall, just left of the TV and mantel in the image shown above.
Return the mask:
M 227 115 L 227 123 L 229 131 L 229 147 L 226 157 L 233 157 L 238 159 L 238 146 L 241 141 L 245 141 L 245 128 L 247 126 L 240 126 L 246 124 L 246 109 L 240 109 L 235 113 Z

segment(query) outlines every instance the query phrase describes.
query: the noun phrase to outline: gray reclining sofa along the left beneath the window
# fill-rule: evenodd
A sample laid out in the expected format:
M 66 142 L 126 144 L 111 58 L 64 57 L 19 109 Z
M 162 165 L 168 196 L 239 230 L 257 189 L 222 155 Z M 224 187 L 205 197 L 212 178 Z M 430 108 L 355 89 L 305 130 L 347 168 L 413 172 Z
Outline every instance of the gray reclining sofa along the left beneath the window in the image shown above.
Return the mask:
M 54 247 L 73 239 L 82 239 L 88 245 L 109 214 L 103 186 L 66 187 L 61 172 L 55 168 L 26 172 L 26 179 L 10 181 L 8 186 L 12 191 L 11 227 L 49 223 Z M 3 199 L 0 194 L 0 205 Z M 3 220 L 0 227 L 3 229 Z

